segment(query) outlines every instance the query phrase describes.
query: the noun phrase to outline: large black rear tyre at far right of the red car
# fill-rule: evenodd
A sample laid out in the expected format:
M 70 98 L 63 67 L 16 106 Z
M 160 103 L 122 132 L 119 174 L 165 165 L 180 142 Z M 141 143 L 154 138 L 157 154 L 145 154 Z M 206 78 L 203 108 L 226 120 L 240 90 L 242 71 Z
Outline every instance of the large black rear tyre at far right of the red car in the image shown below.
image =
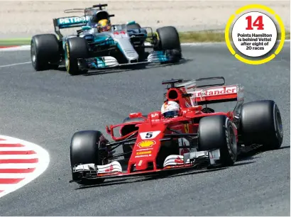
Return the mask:
M 252 101 L 241 108 L 241 135 L 246 145 L 263 145 L 265 150 L 281 147 L 283 127 L 275 101 Z

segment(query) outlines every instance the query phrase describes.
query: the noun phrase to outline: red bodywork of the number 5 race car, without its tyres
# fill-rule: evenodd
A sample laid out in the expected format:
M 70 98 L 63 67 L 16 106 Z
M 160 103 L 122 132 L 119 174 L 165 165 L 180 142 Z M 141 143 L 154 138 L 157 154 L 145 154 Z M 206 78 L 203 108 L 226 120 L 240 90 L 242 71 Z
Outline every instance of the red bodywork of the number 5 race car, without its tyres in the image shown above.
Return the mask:
M 213 102 L 222 101 L 238 101 L 239 104 L 243 103 L 243 89 L 238 85 L 208 87 L 206 89 L 198 89 L 194 87 L 194 91 L 190 91 L 193 87 L 174 87 L 167 91 L 166 99 L 169 101 L 176 101 L 180 104 L 181 113 L 177 118 L 163 118 L 160 111 L 154 111 L 148 113 L 147 118 L 143 117 L 142 113 L 131 113 L 130 118 L 144 118 L 144 120 L 122 123 L 114 126 L 106 126 L 106 131 L 111 135 L 111 138 L 115 141 L 126 140 L 130 135 L 136 133 L 136 141 L 132 147 L 132 154 L 128 161 L 127 171 L 114 172 L 109 174 L 97 174 L 97 176 L 120 176 L 129 174 L 140 174 L 147 172 L 158 172 L 164 169 L 191 167 L 192 165 L 177 165 L 175 167 L 164 167 L 158 169 L 157 156 L 163 141 L 160 141 L 165 137 L 165 134 L 173 133 L 172 130 L 177 130 L 179 133 L 197 133 L 199 126 L 199 118 L 204 116 L 227 116 L 231 121 L 234 120 L 234 111 L 204 113 L 202 111 L 202 105 L 200 102 L 208 101 L 210 104 Z M 192 96 L 185 94 L 191 93 Z M 127 125 L 136 126 L 136 131 L 131 131 L 127 135 L 121 135 L 116 137 L 114 135 L 114 128 L 123 128 Z M 234 125 L 235 126 L 235 125 Z M 172 130 L 169 130 L 171 128 Z M 234 127 L 236 140 L 238 140 L 238 133 L 236 126 Z M 121 130 L 119 130 L 121 132 Z M 178 155 L 183 155 L 184 152 L 189 152 L 189 149 L 180 148 Z M 181 160 L 177 159 L 177 162 Z M 176 162 L 176 160 L 175 160 Z M 153 169 L 148 169 L 148 165 L 151 163 Z M 135 170 L 133 171 L 133 165 Z

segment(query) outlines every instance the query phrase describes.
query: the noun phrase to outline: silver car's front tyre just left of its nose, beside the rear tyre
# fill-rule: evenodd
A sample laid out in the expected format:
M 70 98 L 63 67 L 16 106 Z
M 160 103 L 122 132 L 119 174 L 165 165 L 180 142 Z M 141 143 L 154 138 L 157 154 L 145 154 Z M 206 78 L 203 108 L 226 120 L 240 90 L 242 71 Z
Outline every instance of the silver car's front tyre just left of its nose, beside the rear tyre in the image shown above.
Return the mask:
M 89 46 L 84 38 L 69 38 L 65 43 L 65 65 L 67 72 L 71 75 L 84 74 L 88 69 L 80 69 L 78 58 L 89 57 Z

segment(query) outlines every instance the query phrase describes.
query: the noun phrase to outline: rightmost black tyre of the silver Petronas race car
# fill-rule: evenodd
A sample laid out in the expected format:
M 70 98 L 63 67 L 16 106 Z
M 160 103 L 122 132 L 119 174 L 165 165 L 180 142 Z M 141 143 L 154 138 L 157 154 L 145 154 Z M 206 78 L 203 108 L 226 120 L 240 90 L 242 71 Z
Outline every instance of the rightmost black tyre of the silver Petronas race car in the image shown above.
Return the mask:
M 173 26 L 158 28 L 156 31 L 155 50 L 164 50 L 170 62 L 177 62 L 182 57 L 179 33 Z

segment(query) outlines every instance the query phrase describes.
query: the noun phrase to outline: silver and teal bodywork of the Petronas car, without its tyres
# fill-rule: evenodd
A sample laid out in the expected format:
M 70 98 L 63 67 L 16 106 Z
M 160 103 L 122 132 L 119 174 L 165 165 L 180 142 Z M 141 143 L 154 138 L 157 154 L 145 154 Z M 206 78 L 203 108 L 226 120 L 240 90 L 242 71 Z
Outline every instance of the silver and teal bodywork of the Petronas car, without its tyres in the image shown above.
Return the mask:
M 145 48 L 154 48 L 155 39 L 154 37 L 148 36 L 147 33 L 147 31 L 150 30 L 152 33 L 151 35 L 153 35 L 153 29 L 150 27 L 140 28 L 135 21 L 115 24 L 111 26 L 111 30 L 99 33 L 97 30 L 97 23 L 101 19 L 110 20 L 110 18 L 114 16 L 113 14 L 109 14 L 106 10 L 101 9 L 105 5 L 106 4 L 95 5 L 92 8 L 84 10 L 66 10 L 65 13 L 79 13 L 84 11 L 84 16 L 70 16 L 53 19 L 55 33 L 57 33 L 60 40 L 62 40 L 62 48 L 64 52 L 64 58 L 61 59 L 60 64 L 65 64 L 67 62 L 68 55 L 67 50 L 65 49 L 67 40 L 75 37 L 85 38 L 90 44 L 89 57 L 82 57 L 82 55 L 77 57 L 79 70 L 84 72 L 89 69 L 105 69 L 126 65 L 179 62 L 182 59 L 182 55 L 177 53 L 173 54 L 174 52 L 172 52 L 172 50 L 159 49 L 145 52 L 145 50 L 143 50 Z M 135 25 L 137 25 L 137 28 L 134 27 Z M 131 26 L 129 27 L 130 30 L 127 29 L 128 26 Z M 62 33 L 60 33 L 61 29 L 77 27 L 82 28 L 77 30 L 77 34 L 62 35 Z M 150 38 L 150 41 L 146 42 L 146 39 L 148 38 Z M 101 52 L 99 52 L 99 50 L 101 50 Z M 145 56 L 146 54 L 148 54 L 147 57 Z

